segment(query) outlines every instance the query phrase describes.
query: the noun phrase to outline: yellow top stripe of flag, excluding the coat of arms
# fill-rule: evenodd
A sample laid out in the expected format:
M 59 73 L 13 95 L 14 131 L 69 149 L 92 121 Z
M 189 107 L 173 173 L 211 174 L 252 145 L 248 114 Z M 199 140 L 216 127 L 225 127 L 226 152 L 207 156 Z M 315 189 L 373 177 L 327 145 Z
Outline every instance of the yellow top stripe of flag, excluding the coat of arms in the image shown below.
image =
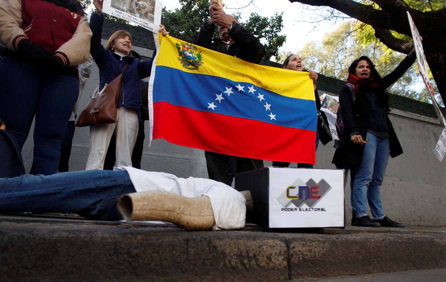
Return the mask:
M 273 91 L 283 96 L 314 101 L 313 81 L 308 72 L 280 69 L 266 65 L 257 65 L 242 59 L 195 45 L 202 51 L 203 64 L 198 69 L 187 69 L 181 64 L 177 43 L 181 41 L 171 36 L 158 35 L 160 50 L 156 65 L 163 65 L 194 74 L 206 74 L 227 78 L 235 82 L 252 83 L 258 87 Z M 180 49 L 181 51 L 181 49 Z

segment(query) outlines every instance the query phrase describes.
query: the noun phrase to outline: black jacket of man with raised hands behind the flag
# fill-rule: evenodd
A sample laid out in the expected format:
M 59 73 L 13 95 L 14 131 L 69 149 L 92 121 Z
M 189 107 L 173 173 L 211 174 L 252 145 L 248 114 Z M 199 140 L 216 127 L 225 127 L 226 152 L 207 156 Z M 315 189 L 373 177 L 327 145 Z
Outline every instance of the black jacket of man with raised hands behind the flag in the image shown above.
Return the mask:
M 211 49 L 230 56 L 238 57 L 242 60 L 258 64 L 265 55 L 265 47 L 260 41 L 240 24 L 233 22 L 233 28 L 228 30 L 229 37 L 235 42 L 226 49 L 226 44 L 220 38 L 212 38 L 215 24 L 204 23 L 194 43 L 207 49 Z

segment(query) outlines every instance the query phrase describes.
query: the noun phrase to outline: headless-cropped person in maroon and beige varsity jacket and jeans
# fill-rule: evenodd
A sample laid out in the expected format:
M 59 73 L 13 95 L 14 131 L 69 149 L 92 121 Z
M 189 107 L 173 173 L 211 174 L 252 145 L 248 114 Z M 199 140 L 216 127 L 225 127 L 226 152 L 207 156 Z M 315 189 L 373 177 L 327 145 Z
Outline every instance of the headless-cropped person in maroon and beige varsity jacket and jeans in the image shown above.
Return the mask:
M 91 30 L 77 0 L 0 0 L 0 119 L 19 150 L 35 117 L 34 174 L 58 171 Z

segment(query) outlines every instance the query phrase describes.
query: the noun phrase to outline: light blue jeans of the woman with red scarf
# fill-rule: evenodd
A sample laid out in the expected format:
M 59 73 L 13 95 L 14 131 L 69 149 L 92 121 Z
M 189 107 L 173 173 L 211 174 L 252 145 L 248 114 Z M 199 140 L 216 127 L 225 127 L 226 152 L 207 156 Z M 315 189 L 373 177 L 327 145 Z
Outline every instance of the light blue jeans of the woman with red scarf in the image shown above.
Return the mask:
M 367 201 L 373 219 L 384 218 L 380 186 L 384 179 L 390 148 L 388 138 L 380 139 L 367 132 L 367 144 L 361 164 L 356 169 L 353 187 L 356 217 L 367 215 Z

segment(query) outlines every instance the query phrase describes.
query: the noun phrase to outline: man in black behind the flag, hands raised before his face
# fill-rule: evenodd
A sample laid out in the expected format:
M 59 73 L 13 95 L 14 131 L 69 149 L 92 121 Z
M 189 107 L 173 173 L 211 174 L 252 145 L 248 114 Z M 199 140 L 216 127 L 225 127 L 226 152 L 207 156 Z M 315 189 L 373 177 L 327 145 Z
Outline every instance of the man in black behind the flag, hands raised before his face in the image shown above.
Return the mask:
M 202 25 L 195 37 L 195 44 L 255 64 L 262 60 L 265 55 L 264 46 L 254 35 L 245 30 L 235 17 L 223 12 L 217 0 L 211 0 L 209 13 L 211 18 Z M 215 24 L 218 25 L 220 38 L 212 38 Z M 228 185 L 231 185 L 228 178 L 230 165 L 236 166 L 237 173 L 264 167 L 263 160 L 259 159 L 231 158 L 230 155 L 212 151 L 205 151 L 205 156 L 209 179 Z M 230 159 L 235 159 L 235 163 L 230 164 Z

